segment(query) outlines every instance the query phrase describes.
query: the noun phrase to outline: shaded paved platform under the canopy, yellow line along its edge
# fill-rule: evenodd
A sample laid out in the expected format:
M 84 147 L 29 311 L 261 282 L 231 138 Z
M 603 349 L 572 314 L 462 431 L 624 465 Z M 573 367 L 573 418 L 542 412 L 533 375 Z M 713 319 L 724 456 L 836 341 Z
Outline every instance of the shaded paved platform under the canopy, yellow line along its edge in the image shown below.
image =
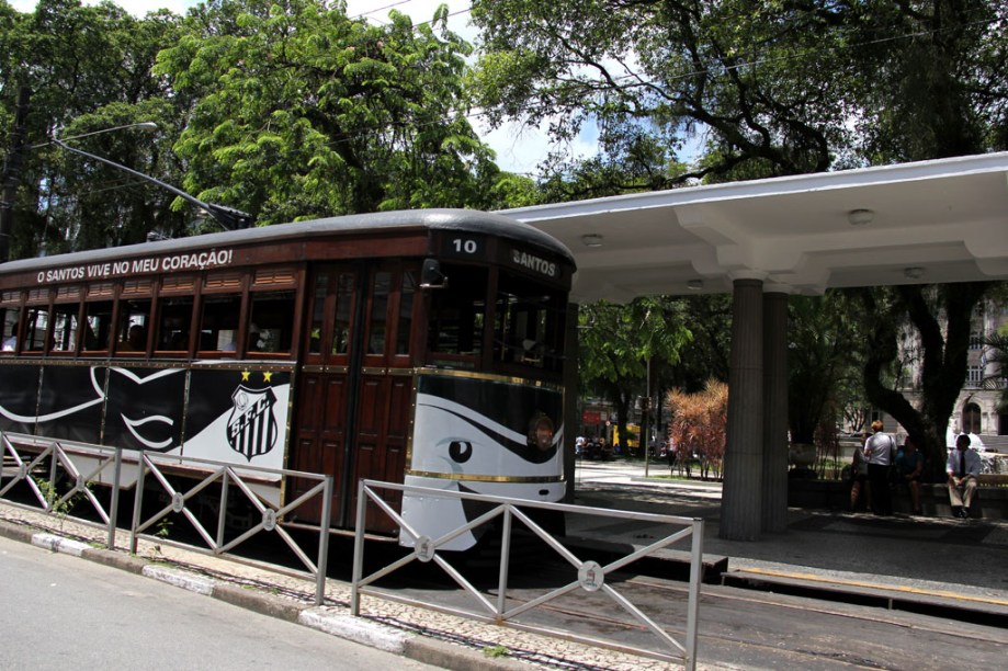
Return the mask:
M 705 582 L 1008 626 L 1008 521 L 792 508 L 783 533 L 725 541 L 721 485 L 660 477 L 668 475 L 664 463 L 645 469 L 643 462 L 579 462 L 575 503 L 702 519 Z M 641 524 L 568 526 L 587 545 L 643 547 L 657 532 Z M 659 553 L 688 561 L 683 549 Z

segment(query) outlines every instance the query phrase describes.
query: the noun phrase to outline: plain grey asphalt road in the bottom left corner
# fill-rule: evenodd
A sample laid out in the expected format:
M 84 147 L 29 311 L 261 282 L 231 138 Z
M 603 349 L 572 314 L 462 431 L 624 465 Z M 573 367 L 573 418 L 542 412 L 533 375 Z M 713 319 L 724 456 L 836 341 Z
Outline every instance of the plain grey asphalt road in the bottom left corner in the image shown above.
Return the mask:
M 0 669 L 434 669 L 0 537 Z

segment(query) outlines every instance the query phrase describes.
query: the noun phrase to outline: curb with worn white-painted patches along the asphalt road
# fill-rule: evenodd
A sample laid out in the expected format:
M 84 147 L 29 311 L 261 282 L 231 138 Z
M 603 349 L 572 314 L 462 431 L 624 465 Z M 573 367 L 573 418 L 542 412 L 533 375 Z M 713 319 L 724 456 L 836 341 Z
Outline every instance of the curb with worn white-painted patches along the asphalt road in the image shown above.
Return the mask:
M 245 589 L 163 564 L 151 562 L 121 551 L 95 548 L 80 541 L 64 538 L 52 533 L 37 532 L 26 526 L 11 524 L 5 520 L 0 520 L 0 536 L 27 543 L 53 553 L 72 555 L 95 564 L 137 573 L 196 594 L 217 599 L 247 611 L 293 622 L 322 634 L 443 669 L 464 671 L 479 668 L 495 671 L 518 671 L 529 668 L 528 664 L 516 660 L 488 658 L 478 650 L 427 639 L 417 634 L 407 634 L 364 618 L 338 613 L 336 609 L 329 606 L 307 606 L 290 603 L 256 590 Z

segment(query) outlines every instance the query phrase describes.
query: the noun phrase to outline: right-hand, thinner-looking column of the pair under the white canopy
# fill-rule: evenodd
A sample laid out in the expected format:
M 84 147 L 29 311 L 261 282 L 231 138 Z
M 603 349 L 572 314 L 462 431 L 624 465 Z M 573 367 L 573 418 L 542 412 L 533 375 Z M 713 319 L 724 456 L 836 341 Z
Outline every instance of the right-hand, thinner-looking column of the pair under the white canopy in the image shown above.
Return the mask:
M 788 527 L 788 294 L 763 294 L 762 531 Z

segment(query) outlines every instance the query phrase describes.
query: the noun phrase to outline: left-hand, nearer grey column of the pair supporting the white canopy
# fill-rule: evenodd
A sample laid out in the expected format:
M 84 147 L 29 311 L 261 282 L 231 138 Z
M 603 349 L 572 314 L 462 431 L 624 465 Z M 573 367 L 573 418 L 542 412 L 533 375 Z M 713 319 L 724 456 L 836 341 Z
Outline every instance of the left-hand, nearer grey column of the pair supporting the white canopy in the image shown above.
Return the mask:
M 763 282 L 734 280 L 728 428 L 718 534 L 755 541 L 762 527 Z

